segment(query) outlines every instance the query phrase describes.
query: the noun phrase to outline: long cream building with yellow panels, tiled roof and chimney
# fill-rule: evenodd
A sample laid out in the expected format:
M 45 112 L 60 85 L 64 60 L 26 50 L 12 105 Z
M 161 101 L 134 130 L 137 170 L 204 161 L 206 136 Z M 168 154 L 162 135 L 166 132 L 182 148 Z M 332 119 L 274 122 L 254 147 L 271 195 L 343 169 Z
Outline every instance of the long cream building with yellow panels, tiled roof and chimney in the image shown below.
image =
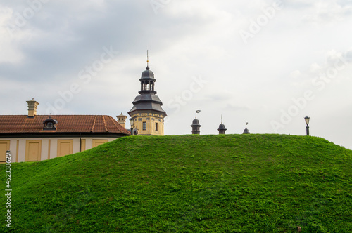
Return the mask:
M 37 115 L 39 103 L 34 99 L 27 103 L 27 115 L 0 116 L 0 162 L 7 150 L 11 161 L 42 161 L 130 135 L 111 116 Z

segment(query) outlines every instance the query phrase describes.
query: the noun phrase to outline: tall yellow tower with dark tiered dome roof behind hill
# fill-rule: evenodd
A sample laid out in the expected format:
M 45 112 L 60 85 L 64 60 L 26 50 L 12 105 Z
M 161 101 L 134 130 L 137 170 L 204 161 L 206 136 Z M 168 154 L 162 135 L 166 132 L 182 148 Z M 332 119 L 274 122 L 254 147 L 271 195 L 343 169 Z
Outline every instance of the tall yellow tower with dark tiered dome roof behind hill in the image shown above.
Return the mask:
M 163 102 L 154 90 L 156 79 L 149 69 L 149 60 L 146 62 L 146 70 L 139 79 L 141 91 L 134 98 L 133 107 L 128 114 L 134 119 L 134 128 L 137 128 L 139 135 L 164 135 L 164 118 L 168 115 L 161 108 Z

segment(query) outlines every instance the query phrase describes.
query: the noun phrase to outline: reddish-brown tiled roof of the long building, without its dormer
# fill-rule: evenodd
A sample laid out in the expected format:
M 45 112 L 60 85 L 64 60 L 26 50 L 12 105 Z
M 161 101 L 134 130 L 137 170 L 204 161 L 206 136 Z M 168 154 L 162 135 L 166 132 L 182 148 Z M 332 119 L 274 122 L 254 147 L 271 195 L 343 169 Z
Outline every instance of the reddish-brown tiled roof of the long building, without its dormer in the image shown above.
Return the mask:
M 28 118 L 27 115 L 0 115 L 0 133 L 123 133 L 130 131 L 123 128 L 111 116 L 103 115 L 51 115 L 58 121 L 56 131 L 43 130 L 43 121 L 47 115 Z

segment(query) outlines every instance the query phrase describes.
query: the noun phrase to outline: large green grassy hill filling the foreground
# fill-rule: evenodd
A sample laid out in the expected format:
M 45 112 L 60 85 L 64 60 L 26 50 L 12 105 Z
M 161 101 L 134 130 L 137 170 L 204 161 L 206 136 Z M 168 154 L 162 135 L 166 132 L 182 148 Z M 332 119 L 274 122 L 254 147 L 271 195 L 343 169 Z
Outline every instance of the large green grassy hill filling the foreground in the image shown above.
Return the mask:
M 352 232 L 352 151 L 322 138 L 134 136 L 11 172 L 12 232 Z

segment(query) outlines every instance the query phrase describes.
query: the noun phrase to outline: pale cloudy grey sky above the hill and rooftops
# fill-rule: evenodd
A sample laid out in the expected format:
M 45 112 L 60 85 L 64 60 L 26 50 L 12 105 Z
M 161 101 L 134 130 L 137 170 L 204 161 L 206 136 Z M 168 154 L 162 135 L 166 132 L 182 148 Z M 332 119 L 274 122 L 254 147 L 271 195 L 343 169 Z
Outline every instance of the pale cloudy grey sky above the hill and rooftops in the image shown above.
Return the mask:
M 127 115 L 149 66 L 165 134 L 310 135 L 352 149 L 351 0 L 0 1 L 0 114 Z

